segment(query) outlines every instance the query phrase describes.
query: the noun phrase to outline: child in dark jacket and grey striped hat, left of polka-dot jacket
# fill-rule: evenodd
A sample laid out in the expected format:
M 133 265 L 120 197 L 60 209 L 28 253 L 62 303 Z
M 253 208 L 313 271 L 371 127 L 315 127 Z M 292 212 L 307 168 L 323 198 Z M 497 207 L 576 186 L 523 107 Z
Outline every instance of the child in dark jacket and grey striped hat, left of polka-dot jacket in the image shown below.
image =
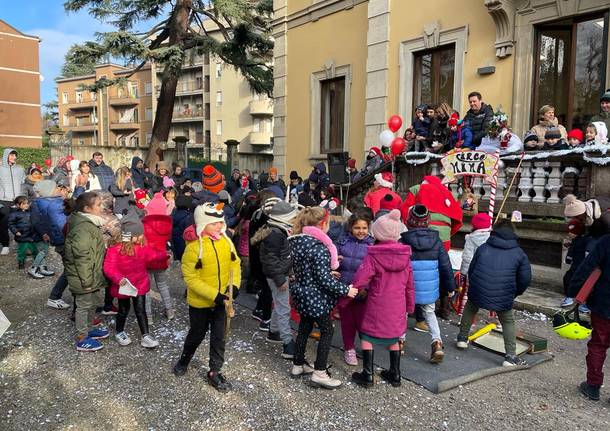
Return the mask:
M 290 328 L 290 294 L 288 279 L 292 270 L 292 258 L 288 234 L 297 210 L 288 202 L 278 201 L 267 210 L 267 224 L 252 237 L 252 244 L 260 243 L 262 271 L 267 278 L 273 297 L 273 311 L 267 341 L 282 343 L 282 358 L 294 357 L 294 341 Z

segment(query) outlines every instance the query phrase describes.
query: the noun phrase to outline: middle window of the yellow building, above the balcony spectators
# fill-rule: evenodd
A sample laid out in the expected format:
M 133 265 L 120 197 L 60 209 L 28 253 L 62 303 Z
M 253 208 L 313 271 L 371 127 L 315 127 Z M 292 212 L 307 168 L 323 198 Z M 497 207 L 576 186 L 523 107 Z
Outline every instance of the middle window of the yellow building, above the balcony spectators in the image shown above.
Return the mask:
M 415 54 L 413 106 L 446 102 L 453 106 L 455 45 L 445 45 Z

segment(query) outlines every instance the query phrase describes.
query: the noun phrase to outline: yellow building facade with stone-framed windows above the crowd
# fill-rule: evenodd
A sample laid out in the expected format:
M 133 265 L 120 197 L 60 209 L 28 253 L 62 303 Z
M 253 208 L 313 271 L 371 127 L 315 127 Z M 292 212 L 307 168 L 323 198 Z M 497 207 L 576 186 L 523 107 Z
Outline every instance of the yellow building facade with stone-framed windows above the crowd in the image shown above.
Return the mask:
M 610 87 L 610 0 L 276 0 L 274 163 L 363 164 L 393 114 L 478 91 L 520 136 L 540 106 L 583 127 Z

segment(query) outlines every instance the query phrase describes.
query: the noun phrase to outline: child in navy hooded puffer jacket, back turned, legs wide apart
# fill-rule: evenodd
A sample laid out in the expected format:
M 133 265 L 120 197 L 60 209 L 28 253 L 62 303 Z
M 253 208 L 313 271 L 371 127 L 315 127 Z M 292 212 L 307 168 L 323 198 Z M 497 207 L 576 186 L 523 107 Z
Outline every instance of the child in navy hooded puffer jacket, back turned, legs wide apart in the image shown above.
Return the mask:
M 468 269 L 468 302 L 457 337 L 457 347 L 468 348 L 468 332 L 479 308 L 495 311 L 502 324 L 506 350 L 502 365 L 505 367 L 525 365 L 516 355 L 513 302 L 531 283 L 532 268 L 518 239 L 512 223 L 503 219 L 475 252 Z

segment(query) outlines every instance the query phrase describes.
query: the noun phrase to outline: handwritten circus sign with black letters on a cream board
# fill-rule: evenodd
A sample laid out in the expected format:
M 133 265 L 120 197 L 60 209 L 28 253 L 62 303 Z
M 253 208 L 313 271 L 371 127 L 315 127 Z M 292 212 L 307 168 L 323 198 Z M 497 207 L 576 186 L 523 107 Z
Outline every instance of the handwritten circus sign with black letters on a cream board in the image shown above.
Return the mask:
M 459 177 L 482 177 L 483 181 L 493 183 L 494 166 L 498 156 L 484 151 L 457 149 L 449 151 L 441 159 L 444 184 L 454 183 Z

